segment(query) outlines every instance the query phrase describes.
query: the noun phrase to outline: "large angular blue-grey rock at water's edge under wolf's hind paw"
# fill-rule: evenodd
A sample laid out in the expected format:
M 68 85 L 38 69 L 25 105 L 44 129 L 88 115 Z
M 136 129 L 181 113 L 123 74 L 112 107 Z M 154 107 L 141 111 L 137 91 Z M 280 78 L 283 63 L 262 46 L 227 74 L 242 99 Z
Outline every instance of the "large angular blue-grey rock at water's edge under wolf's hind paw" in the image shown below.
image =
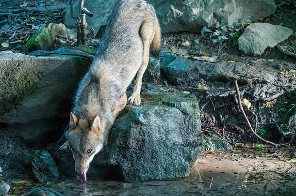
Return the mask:
M 200 111 L 194 96 L 149 86 L 141 106 L 117 117 L 97 163 L 119 166 L 126 181 L 187 177 L 203 149 Z

